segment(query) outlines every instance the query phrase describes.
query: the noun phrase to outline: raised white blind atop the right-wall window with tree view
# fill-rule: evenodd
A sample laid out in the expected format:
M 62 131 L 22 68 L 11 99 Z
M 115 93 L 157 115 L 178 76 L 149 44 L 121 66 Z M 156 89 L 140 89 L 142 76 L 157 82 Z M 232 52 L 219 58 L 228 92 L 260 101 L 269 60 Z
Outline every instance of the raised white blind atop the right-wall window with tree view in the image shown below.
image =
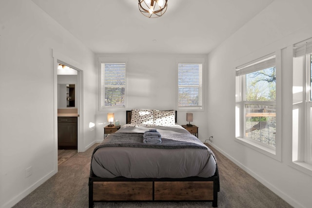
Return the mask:
M 269 55 L 267 57 L 262 57 L 261 59 L 257 59 L 253 62 L 236 67 L 236 76 L 246 75 L 259 70 L 268 69 L 274 67 L 275 65 L 275 55 Z

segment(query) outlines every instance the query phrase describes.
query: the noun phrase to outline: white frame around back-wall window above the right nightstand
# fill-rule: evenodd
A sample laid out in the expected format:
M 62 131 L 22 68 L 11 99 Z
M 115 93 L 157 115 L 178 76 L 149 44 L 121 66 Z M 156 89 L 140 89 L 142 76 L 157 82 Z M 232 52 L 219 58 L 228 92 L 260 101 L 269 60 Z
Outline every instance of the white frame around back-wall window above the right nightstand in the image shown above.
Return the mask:
M 201 97 L 201 106 L 179 106 L 179 64 L 201 64 L 201 93 L 198 93 Z M 176 59 L 176 109 L 179 111 L 204 111 L 205 106 L 205 58 L 177 58 Z

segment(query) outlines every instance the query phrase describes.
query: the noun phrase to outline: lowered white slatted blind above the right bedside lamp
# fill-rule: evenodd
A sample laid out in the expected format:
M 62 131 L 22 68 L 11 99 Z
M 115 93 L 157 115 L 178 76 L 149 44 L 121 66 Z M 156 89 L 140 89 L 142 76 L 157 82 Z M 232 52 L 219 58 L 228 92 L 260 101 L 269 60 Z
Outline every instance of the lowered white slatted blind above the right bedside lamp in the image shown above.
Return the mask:
M 178 64 L 178 106 L 202 106 L 202 64 Z

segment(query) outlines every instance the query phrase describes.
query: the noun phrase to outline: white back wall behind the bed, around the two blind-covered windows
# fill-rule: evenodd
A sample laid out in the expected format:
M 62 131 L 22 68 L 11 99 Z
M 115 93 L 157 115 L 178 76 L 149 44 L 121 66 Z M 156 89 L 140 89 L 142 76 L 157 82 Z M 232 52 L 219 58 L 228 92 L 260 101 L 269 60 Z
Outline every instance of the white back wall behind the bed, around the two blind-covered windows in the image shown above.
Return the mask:
M 97 102 L 97 140 L 103 139 L 103 127 L 107 122 L 107 113 L 115 113 L 115 120 L 120 121 L 120 125 L 126 123 L 125 110 L 131 109 L 157 109 L 157 110 L 177 110 L 176 109 L 176 60 L 188 58 L 206 58 L 206 55 L 168 55 L 168 54 L 98 54 L 99 57 L 122 57 L 128 60 L 127 74 L 127 107 L 124 110 L 98 111 Z M 99 67 L 98 67 L 99 70 Z M 206 73 L 203 67 L 203 74 Z M 205 83 L 205 81 L 204 81 Z M 205 96 L 204 96 L 205 98 Z M 193 124 L 198 126 L 199 139 L 205 140 L 206 116 L 204 111 L 178 111 L 177 122 L 180 125 L 187 124 L 186 113 L 194 113 Z

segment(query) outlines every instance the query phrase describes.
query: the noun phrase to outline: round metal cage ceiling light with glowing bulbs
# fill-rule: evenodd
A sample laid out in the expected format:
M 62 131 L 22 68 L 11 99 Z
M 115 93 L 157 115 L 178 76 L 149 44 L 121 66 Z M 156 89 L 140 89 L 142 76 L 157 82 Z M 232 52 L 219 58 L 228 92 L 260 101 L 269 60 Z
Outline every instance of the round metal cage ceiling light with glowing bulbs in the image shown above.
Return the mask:
M 138 9 L 145 17 L 158 18 L 167 11 L 167 0 L 138 0 Z

